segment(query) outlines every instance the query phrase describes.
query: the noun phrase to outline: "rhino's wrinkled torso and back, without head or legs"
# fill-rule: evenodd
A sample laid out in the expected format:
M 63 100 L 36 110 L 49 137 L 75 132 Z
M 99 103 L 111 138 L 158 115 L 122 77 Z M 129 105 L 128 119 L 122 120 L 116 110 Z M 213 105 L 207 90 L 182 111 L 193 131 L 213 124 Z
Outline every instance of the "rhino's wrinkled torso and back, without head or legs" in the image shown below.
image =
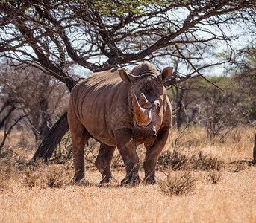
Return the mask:
M 75 85 L 71 97 L 78 120 L 90 135 L 116 146 L 113 132 L 131 126 L 128 88 L 117 69 L 95 73 Z

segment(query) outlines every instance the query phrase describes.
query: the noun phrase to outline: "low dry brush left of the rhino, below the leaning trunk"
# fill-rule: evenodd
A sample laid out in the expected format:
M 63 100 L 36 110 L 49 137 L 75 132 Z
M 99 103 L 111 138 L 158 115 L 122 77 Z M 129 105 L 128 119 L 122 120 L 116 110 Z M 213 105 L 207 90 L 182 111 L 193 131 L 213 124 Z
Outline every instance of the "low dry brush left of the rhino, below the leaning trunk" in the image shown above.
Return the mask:
M 69 164 L 46 164 L 42 160 L 29 162 L 13 152 L 0 153 L 0 189 L 25 185 L 26 187 L 62 187 L 71 181 Z

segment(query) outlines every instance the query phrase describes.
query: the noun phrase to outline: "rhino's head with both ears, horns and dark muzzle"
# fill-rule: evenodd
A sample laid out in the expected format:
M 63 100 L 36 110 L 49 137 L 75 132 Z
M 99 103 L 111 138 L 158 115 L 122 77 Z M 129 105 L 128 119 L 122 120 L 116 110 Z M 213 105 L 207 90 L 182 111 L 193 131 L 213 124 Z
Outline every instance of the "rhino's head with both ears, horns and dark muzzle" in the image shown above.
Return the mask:
M 139 75 L 123 69 L 118 71 L 122 80 L 131 85 L 128 100 L 131 101 L 133 114 L 133 138 L 142 143 L 157 139 L 166 100 L 163 80 L 172 77 L 172 68 L 164 68 L 161 74 L 157 74 L 156 70 L 143 71 Z

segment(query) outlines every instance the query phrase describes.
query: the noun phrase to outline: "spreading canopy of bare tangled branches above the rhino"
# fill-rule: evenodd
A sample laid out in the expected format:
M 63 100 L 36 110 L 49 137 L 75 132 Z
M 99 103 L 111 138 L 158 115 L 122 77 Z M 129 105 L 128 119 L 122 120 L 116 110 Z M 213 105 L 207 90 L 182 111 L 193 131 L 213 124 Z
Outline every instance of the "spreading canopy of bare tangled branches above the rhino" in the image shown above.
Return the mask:
M 232 25 L 254 1 L 1 1 L 0 52 L 32 65 L 66 84 L 75 85 L 71 65 L 90 71 L 127 66 L 169 55 L 184 59 L 190 46 L 228 41 Z M 237 12 L 240 14 L 237 15 Z M 201 76 L 199 65 L 190 65 Z M 63 135 L 65 132 L 58 132 Z M 54 140 L 56 135 L 52 135 Z

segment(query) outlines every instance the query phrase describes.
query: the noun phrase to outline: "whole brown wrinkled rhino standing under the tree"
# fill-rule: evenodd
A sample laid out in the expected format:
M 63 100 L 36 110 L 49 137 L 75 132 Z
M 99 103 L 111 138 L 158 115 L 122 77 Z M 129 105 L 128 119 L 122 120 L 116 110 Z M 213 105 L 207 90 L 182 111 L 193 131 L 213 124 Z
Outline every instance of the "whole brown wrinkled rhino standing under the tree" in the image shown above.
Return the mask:
M 93 136 L 100 142 L 96 167 L 101 184 L 112 178 L 110 163 L 119 149 L 125 163 L 122 184 L 137 184 L 139 158 L 137 145 L 144 143 L 145 183 L 154 183 L 157 159 L 169 134 L 172 109 L 163 80 L 172 68 L 157 74 L 149 62 L 137 65 L 131 73 L 119 68 L 95 73 L 72 89 L 68 121 L 72 134 L 75 181 L 84 177 L 84 145 Z

